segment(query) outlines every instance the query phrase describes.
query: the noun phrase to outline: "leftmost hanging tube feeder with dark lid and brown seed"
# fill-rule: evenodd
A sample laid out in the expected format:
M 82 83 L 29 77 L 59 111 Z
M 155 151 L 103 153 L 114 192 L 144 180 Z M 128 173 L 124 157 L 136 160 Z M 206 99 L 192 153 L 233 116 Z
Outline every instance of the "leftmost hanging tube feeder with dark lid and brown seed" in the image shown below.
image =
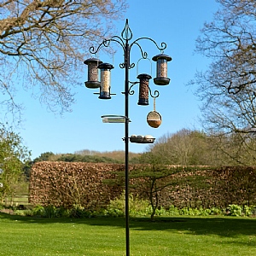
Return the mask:
M 88 65 L 88 81 L 85 82 L 87 88 L 95 89 L 101 86 L 101 82 L 98 81 L 98 65 L 102 61 L 96 58 L 90 58 L 84 61 L 85 65 Z

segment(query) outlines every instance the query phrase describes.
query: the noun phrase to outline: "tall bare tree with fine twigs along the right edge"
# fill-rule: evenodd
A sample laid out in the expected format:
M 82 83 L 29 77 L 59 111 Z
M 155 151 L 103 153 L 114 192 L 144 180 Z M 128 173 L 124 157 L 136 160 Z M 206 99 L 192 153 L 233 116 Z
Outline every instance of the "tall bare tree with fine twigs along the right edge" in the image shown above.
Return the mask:
M 205 23 L 196 42 L 196 50 L 212 63 L 205 73 L 196 73 L 191 84 L 198 86 L 196 95 L 203 101 L 202 122 L 207 131 L 218 137 L 239 137 L 241 148 L 255 154 L 256 3 L 217 2 L 220 9 L 212 22 Z

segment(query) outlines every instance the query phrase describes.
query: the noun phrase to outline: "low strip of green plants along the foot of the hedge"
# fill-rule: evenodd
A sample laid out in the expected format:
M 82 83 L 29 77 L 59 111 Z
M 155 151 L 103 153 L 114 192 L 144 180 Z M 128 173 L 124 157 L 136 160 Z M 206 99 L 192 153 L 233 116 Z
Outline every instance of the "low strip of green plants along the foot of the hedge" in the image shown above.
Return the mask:
M 4 207 L 0 205 L 0 209 Z M 15 209 L 15 207 L 10 207 Z M 129 210 L 131 217 L 150 217 L 153 212 L 153 208 L 149 205 L 148 201 L 140 200 L 137 197 L 131 195 L 129 200 Z M 106 209 L 100 209 L 97 211 L 86 211 L 84 207 L 79 205 L 73 205 L 71 209 L 65 209 L 64 207 L 42 207 L 37 206 L 32 209 L 15 210 L 16 215 L 20 216 L 35 216 L 42 218 L 90 218 L 96 216 L 108 216 L 108 217 L 125 217 L 125 195 L 123 194 L 119 198 L 110 201 Z M 158 217 L 171 217 L 171 216 L 234 216 L 234 217 L 252 217 L 256 215 L 255 207 L 241 207 L 237 205 L 230 205 L 227 209 L 220 209 L 217 207 L 204 209 L 183 207 L 177 208 L 173 205 L 169 208 L 158 207 L 155 209 L 154 216 Z M 154 218 L 153 218 L 154 220 Z

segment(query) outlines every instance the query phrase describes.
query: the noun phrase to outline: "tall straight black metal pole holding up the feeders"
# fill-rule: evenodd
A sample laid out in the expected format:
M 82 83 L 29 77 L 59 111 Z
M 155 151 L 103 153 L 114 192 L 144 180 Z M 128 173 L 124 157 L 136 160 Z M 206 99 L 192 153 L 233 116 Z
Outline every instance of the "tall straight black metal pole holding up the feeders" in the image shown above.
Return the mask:
M 129 230 L 129 66 L 130 48 L 128 39 L 125 41 L 125 239 L 126 256 L 130 256 Z

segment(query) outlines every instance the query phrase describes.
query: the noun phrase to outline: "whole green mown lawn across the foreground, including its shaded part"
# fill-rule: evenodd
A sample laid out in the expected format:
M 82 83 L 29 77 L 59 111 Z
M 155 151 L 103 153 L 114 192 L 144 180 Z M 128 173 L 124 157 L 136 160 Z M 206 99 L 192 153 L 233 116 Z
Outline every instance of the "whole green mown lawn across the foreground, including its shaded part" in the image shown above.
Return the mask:
M 131 218 L 131 255 L 256 255 L 256 219 Z M 125 255 L 125 218 L 0 213 L 0 255 Z

